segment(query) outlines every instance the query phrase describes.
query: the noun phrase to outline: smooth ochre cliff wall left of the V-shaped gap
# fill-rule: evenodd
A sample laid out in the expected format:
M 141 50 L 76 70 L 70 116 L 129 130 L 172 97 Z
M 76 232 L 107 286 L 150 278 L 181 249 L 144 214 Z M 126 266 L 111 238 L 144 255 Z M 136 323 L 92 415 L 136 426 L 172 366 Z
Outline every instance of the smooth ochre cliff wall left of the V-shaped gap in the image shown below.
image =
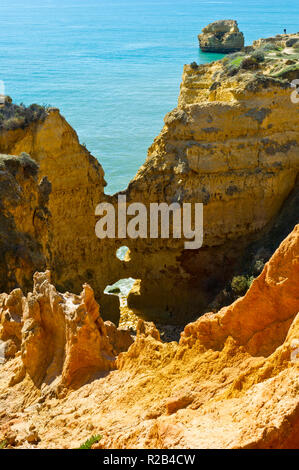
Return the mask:
M 0 151 L 11 155 L 27 152 L 52 183 L 49 210 L 52 214 L 51 268 L 53 280 L 61 290 L 80 293 L 82 284 L 91 282 L 96 296 L 105 310 L 105 298 L 111 304 L 109 319 L 117 322 L 119 302 L 117 297 L 105 296 L 103 290 L 119 277 L 110 276 L 105 262 L 106 249 L 99 246 L 95 236 L 95 207 L 103 199 L 104 172 L 88 150 L 80 145 L 78 136 L 59 110 L 50 108 L 46 116 L 27 126 L 2 129 Z M 107 248 L 109 252 L 110 247 Z M 110 264 L 120 264 L 111 256 Z M 35 271 L 44 269 L 36 263 Z M 113 271 L 113 270 L 112 270 Z M 33 271 L 34 272 L 34 271 Z M 23 287 L 23 285 L 21 285 Z M 32 273 L 29 287 L 32 288 Z M 9 292 L 11 286 L 2 287 Z

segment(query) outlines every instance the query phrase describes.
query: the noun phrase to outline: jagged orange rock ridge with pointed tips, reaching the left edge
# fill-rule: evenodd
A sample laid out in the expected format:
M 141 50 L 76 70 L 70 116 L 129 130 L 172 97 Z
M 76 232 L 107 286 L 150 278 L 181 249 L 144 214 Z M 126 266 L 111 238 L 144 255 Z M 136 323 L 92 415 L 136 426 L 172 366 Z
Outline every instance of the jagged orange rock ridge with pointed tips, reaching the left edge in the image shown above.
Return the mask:
M 21 351 L 11 384 L 27 376 L 43 393 L 61 393 L 110 371 L 115 368 L 114 349 L 118 354 L 132 343 L 116 329 L 112 346 L 88 284 L 81 295 L 60 294 L 49 271 L 35 273 L 27 297 L 20 289 L 1 295 L 0 340 L 2 362 Z

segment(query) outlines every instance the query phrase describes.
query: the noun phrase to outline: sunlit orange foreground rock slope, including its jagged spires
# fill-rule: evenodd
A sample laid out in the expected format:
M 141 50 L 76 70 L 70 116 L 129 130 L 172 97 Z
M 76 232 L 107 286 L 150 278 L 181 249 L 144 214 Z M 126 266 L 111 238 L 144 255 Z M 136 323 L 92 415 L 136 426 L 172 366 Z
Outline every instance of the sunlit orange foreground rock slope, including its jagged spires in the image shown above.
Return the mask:
M 163 343 L 140 320 L 108 374 L 111 349 L 90 288 L 62 296 L 47 273 L 36 275 L 23 300 L 21 353 L 0 365 L 0 442 L 76 448 L 97 435 L 95 447 L 111 449 L 298 448 L 298 285 L 299 225 L 244 297 L 187 325 L 179 343 Z M 90 380 L 86 365 L 107 372 Z M 45 387 L 57 374 L 60 399 Z

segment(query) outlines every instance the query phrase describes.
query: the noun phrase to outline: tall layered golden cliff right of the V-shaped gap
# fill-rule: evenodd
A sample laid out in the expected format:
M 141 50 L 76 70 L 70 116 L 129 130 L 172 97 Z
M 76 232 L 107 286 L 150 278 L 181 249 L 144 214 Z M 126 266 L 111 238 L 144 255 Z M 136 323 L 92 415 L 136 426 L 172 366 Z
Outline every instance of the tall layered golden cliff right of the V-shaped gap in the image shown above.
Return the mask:
M 126 241 L 126 267 L 141 279 L 129 306 L 143 318 L 184 322 L 206 311 L 242 272 L 252 243 L 260 240 L 252 260 L 263 263 L 298 222 L 299 108 L 290 80 L 299 70 L 288 39 L 184 67 L 178 107 L 126 194 L 145 204 L 203 202 L 204 245 Z

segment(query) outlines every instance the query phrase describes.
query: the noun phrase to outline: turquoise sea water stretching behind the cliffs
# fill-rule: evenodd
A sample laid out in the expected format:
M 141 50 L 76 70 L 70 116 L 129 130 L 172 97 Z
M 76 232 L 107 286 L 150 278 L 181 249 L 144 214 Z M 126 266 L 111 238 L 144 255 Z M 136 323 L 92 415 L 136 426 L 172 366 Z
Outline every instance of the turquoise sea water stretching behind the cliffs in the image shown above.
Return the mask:
M 294 1 L 1 0 L 0 80 L 16 102 L 50 104 L 124 189 L 177 104 L 197 34 L 236 19 L 246 43 L 299 30 Z

